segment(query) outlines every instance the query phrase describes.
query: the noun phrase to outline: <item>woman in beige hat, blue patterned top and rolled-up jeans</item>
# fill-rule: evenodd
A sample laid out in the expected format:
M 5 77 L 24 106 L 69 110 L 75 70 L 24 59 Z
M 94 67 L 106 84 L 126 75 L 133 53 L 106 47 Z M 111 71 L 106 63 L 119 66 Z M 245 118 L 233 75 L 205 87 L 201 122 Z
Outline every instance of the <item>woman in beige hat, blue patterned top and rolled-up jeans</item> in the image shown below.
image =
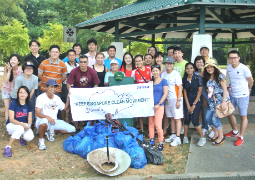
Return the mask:
M 214 136 L 210 139 L 213 145 L 219 146 L 224 144 L 225 136 L 223 135 L 222 124 L 220 119 L 215 116 L 215 106 L 221 105 L 224 111 L 229 101 L 229 94 L 227 92 L 226 77 L 220 72 L 213 59 L 208 59 L 205 63 L 204 83 L 208 88 L 209 107 L 206 114 L 206 119 L 214 131 Z

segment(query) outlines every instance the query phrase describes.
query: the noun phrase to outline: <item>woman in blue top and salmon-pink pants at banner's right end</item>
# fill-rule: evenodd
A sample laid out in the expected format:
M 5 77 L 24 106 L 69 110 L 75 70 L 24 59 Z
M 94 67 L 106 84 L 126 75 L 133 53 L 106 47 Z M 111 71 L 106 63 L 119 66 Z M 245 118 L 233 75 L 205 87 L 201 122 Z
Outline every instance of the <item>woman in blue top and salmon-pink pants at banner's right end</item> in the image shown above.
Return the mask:
M 153 96 L 154 96 L 154 111 L 155 116 L 148 117 L 149 119 L 149 136 L 150 144 L 155 146 L 154 142 L 154 126 L 158 134 L 158 150 L 163 150 L 163 129 L 162 129 L 162 118 L 164 114 L 164 101 L 168 94 L 168 84 L 165 79 L 162 79 L 160 74 L 160 66 L 154 64 L 151 67 L 153 75 Z

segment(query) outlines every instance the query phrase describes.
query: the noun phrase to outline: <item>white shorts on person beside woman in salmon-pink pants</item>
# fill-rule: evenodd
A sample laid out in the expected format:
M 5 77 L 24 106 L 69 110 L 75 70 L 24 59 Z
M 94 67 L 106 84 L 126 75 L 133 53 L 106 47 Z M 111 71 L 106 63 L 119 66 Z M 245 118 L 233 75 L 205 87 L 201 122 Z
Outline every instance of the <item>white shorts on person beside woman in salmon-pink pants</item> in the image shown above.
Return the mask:
M 174 119 L 181 119 L 183 118 L 183 97 L 181 97 L 180 107 L 179 109 L 176 108 L 177 99 L 166 99 L 165 100 L 165 113 L 166 117 Z

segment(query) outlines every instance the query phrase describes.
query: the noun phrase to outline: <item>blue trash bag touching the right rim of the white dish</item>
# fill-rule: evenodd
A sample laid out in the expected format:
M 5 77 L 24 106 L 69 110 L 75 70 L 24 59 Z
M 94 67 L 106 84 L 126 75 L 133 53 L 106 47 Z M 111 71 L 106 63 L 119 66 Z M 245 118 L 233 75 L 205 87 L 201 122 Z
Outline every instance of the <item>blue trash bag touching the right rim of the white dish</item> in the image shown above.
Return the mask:
M 130 167 L 135 169 L 142 169 L 147 164 L 147 159 L 144 150 L 141 147 L 132 147 L 129 149 L 129 156 L 131 158 Z

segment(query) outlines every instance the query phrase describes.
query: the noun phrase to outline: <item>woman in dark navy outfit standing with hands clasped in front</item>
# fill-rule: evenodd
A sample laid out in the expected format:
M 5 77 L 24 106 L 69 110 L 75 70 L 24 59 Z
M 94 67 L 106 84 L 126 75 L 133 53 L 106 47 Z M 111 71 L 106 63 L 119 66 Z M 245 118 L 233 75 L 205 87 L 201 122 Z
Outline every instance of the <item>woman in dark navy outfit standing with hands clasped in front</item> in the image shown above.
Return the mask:
M 203 90 L 202 77 L 194 73 L 195 65 L 193 63 L 187 63 L 185 65 L 185 74 L 183 77 L 183 94 L 184 94 L 184 138 L 183 144 L 189 143 L 188 130 L 189 123 L 192 123 L 200 135 L 200 139 L 197 143 L 198 146 L 204 146 L 206 138 L 203 136 L 202 128 L 198 122 L 198 115 L 202 108 L 203 99 L 201 97 Z

